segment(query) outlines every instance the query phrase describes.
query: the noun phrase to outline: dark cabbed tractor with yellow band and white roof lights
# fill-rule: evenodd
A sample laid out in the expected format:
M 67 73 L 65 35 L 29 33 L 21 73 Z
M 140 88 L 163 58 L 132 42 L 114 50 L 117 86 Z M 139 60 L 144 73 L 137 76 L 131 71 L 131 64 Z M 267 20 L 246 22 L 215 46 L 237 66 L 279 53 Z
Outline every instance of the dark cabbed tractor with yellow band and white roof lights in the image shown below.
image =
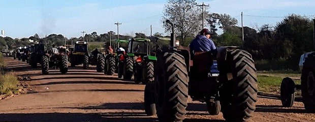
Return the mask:
M 87 42 L 77 41 L 74 45 L 73 51 L 70 52 L 71 67 L 83 64 L 83 69 L 88 68 L 88 44 Z

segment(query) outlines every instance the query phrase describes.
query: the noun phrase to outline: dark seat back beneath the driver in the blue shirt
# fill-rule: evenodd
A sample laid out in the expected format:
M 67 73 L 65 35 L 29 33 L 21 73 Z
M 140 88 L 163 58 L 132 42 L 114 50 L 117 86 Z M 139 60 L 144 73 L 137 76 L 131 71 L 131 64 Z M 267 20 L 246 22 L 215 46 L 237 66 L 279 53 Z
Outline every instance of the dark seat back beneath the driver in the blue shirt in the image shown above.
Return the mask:
M 213 64 L 211 52 L 195 52 L 193 69 L 196 73 L 209 73 Z

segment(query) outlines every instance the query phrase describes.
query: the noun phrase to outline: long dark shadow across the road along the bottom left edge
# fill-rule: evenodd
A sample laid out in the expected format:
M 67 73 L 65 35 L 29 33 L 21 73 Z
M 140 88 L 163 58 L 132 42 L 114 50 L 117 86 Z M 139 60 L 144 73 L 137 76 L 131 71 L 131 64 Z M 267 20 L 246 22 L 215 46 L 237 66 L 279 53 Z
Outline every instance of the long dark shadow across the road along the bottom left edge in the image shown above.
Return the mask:
M 154 121 L 156 118 L 141 117 L 145 113 L 7 113 L 0 114 L 2 121 Z M 118 117 L 119 115 L 119 117 Z M 115 118 L 118 117 L 118 118 Z

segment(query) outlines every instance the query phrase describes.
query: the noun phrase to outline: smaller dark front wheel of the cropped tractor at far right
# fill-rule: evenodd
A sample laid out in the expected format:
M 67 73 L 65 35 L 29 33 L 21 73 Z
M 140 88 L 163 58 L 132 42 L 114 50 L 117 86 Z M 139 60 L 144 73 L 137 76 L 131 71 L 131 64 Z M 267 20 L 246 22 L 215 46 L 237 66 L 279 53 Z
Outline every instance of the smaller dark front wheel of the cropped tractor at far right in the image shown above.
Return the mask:
M 289 78 L 283 78 L 280 86 L 280 99 L 283 107 L 292 107 L 294 102 L 295 83 Z

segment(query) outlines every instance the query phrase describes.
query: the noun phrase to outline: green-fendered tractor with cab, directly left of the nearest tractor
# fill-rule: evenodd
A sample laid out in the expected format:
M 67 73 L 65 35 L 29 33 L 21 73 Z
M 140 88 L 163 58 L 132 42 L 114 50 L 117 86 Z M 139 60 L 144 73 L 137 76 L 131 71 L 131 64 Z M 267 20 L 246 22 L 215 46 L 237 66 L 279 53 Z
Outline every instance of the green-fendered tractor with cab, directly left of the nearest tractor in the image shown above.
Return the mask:
M 154 64 L 156 56 L 150 55 L 151 40 L 132 38 L 129 40 L 128 51 L 124 60 L 124 79 L 131 79 L 143 84 L 153 81 Z

